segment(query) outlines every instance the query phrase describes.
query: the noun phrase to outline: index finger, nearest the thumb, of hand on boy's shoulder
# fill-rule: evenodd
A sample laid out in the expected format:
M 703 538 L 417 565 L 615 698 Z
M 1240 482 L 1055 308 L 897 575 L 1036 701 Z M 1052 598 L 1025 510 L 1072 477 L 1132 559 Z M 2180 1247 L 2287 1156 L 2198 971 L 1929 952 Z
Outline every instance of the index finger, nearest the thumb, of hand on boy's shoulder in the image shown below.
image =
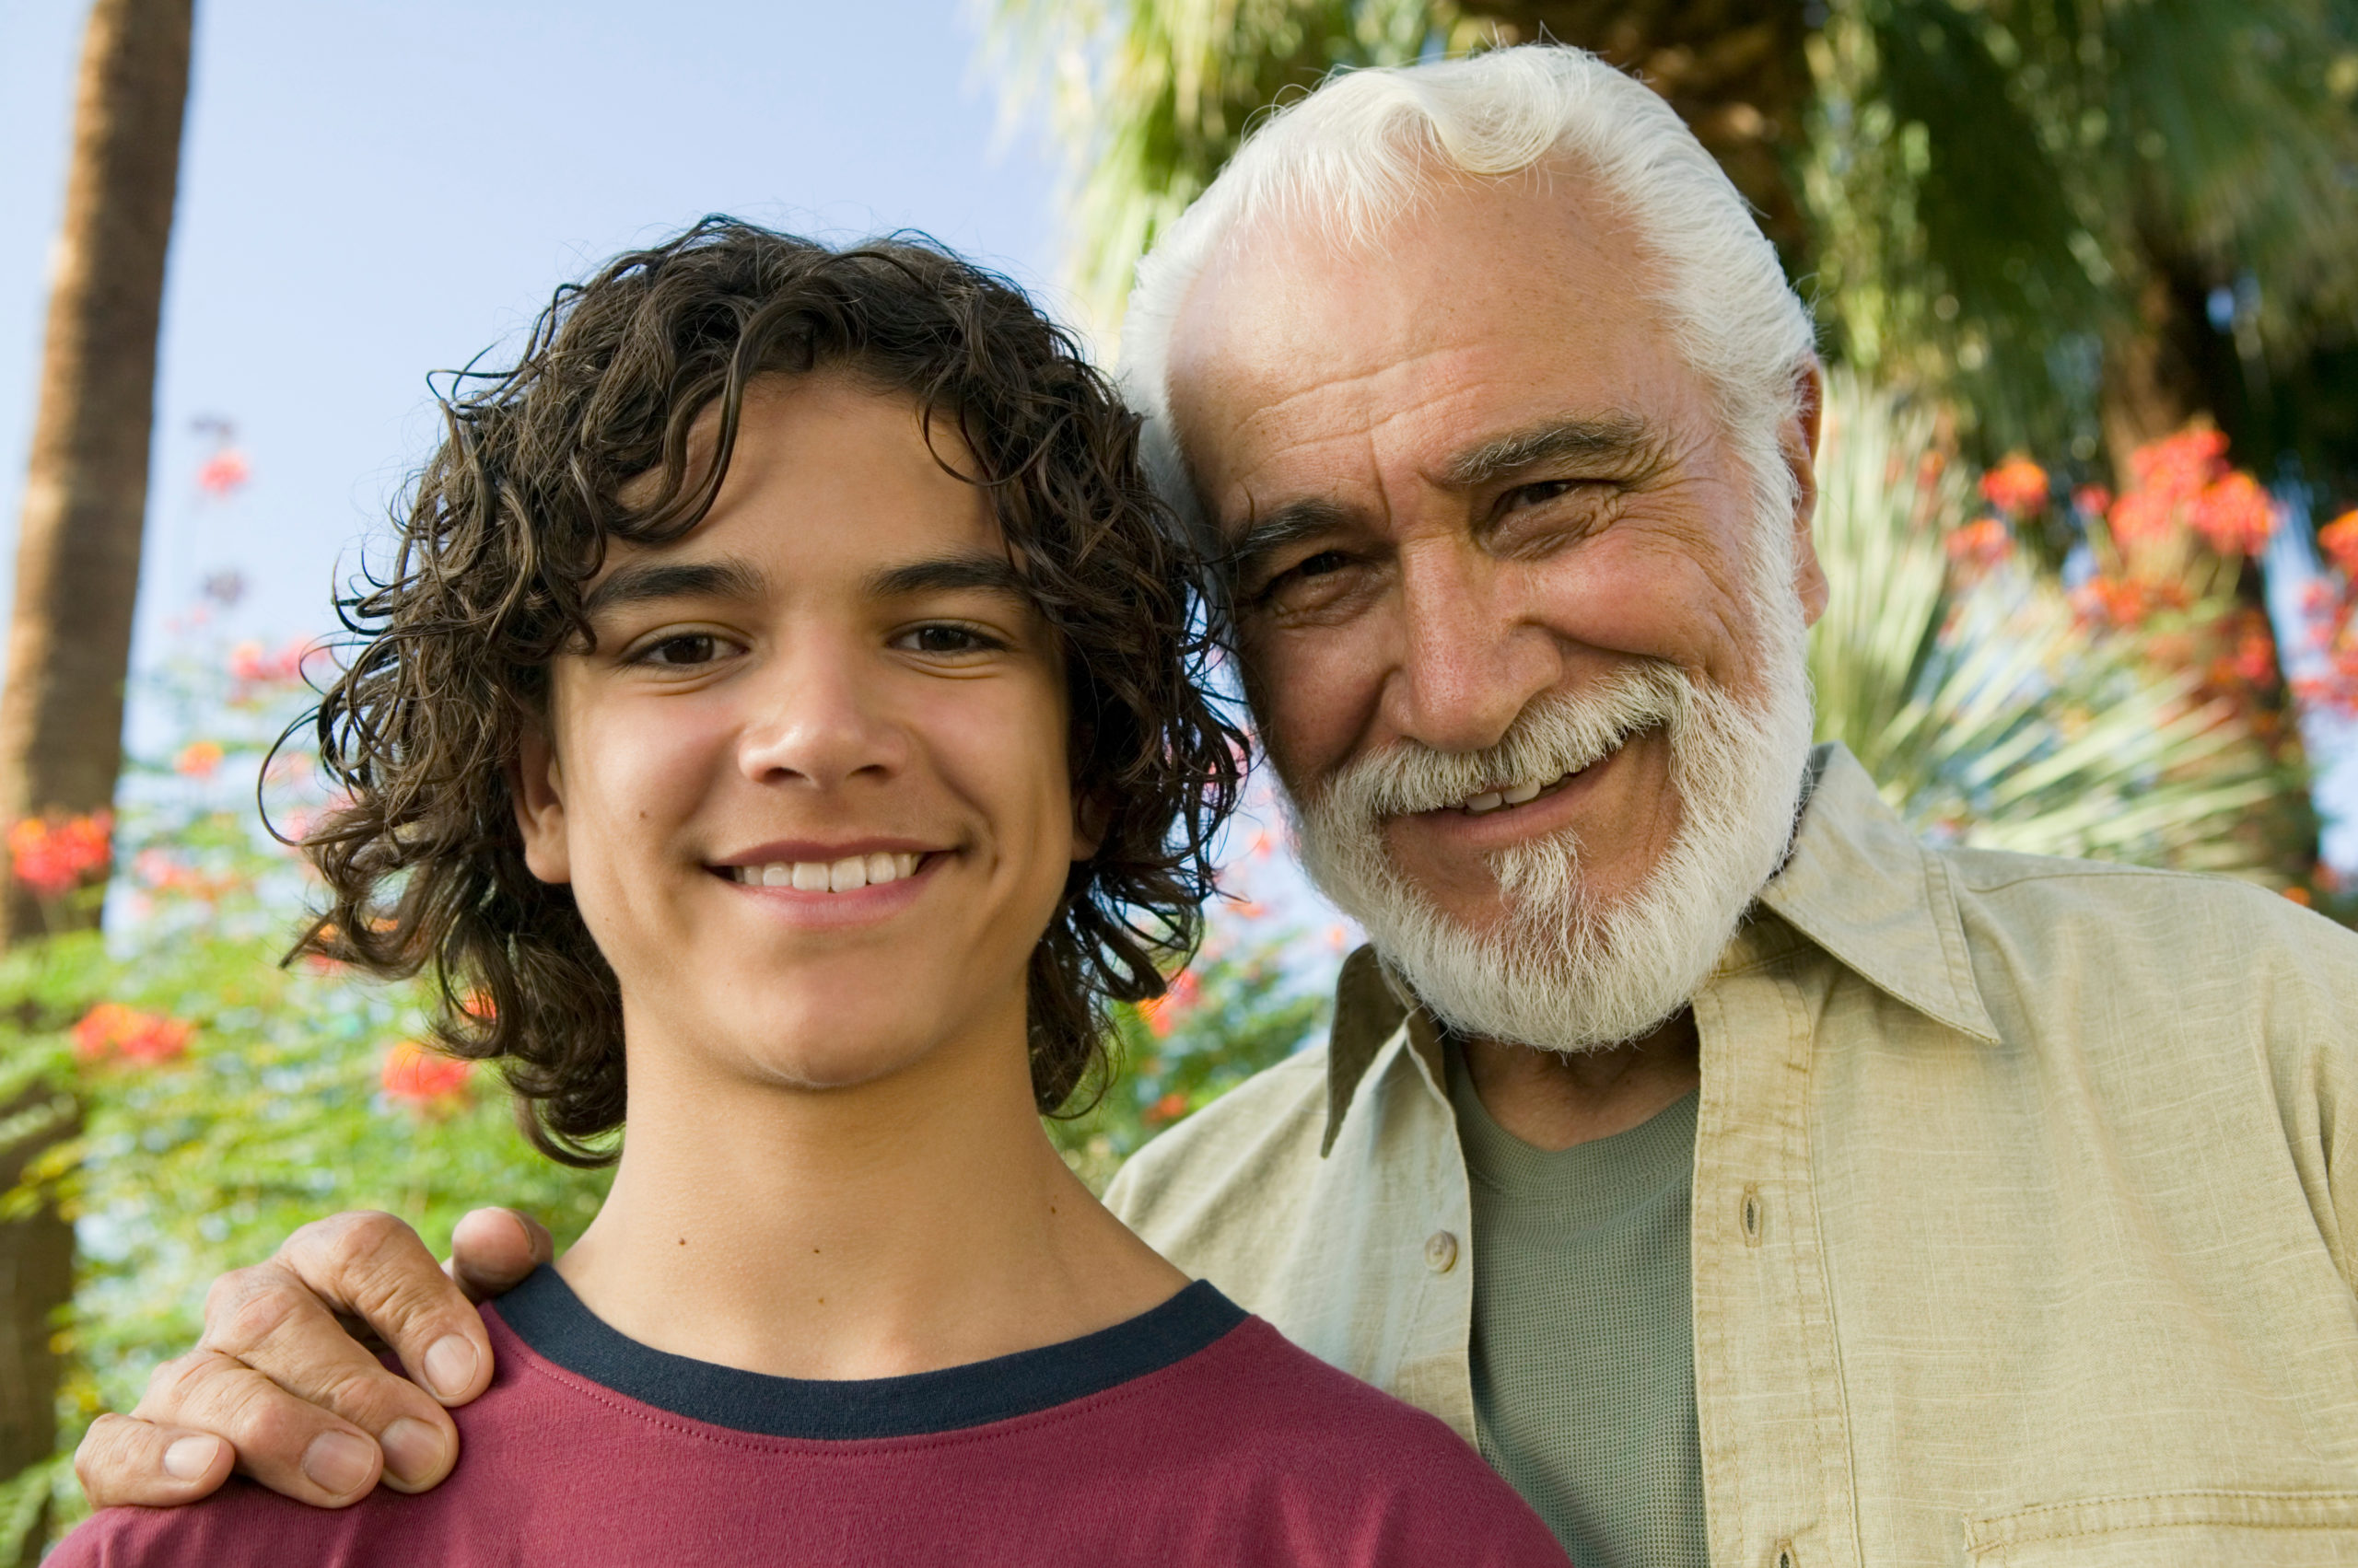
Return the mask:
M 490 1386 L 490 1335 L 481 1313 L 441 1271 L 417 1231 L 391 1214 L 354 1212 L 307 1224 L 271 1261 L 330 1309 L 377 1330 L 408 1375 L 441 1403 L 465 1405 Z M 210 1309 L 205 1316 L 210 1323 Z M 208 1327 L 208 1342 L 210 1335 Z M 302 1375 L 299 1365 L 255 1361 L 233 1344 L 217 1349 L 281 1382 L 283 1372 Z

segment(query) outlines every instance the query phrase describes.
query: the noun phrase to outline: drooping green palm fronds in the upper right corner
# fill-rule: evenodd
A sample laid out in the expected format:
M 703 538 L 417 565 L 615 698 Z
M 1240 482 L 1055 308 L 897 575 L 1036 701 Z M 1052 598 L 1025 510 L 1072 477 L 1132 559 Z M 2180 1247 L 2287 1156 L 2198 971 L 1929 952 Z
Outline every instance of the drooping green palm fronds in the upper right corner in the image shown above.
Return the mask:
M 2101 358 L 2179 278 L 2238 351 L 2346 337 L 2358 12 L 2341 0 L 1832 0 L 1802 186 L 1818 302 L 1875 380 L 1997 446 L 2094 453 Z

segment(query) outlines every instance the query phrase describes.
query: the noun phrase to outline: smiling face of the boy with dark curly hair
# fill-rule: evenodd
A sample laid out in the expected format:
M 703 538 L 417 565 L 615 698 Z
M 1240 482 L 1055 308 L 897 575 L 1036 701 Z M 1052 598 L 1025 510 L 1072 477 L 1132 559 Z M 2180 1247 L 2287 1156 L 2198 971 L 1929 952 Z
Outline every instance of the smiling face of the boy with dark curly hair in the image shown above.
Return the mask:
M 1023 1037 L 1026 960 L 1089 854 L 1063 667 L 910 398 L 750 387 L 710 516 L 615 545 L 587 611 L 516 811 L 620 979 L 634 1089 L 658 1052 L 839 1087 Z

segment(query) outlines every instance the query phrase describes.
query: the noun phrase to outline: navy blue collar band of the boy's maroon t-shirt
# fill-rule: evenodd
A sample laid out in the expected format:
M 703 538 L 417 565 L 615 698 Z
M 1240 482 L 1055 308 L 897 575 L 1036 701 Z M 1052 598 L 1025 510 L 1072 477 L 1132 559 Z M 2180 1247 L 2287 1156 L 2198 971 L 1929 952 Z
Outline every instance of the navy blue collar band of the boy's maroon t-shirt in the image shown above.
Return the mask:
M 1245 1320 L 1196 1280 L 1129 1323 L 964 1368 L 823 1382 L 672 1356 L 606 1327 L 549 1266 L 493 1304 L 533 1351 L 644 1405 L 771 1438 L 913 1438 L 1049 1410 L 1186 1361 Z

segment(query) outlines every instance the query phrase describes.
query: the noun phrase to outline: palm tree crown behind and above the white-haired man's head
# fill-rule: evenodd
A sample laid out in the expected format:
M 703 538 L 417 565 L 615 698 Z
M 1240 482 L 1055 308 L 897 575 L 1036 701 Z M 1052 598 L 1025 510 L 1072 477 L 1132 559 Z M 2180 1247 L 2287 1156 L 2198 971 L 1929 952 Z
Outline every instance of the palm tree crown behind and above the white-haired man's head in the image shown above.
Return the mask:
M 2127 460 L 2358 337 L 2351 0 L 997 0 L 995 33 L 1012 104 L 1054 90 L 1104 323 L 1285 90 L 1540 35 L 1660 90 L 1835 356 L 1993 448 Z

